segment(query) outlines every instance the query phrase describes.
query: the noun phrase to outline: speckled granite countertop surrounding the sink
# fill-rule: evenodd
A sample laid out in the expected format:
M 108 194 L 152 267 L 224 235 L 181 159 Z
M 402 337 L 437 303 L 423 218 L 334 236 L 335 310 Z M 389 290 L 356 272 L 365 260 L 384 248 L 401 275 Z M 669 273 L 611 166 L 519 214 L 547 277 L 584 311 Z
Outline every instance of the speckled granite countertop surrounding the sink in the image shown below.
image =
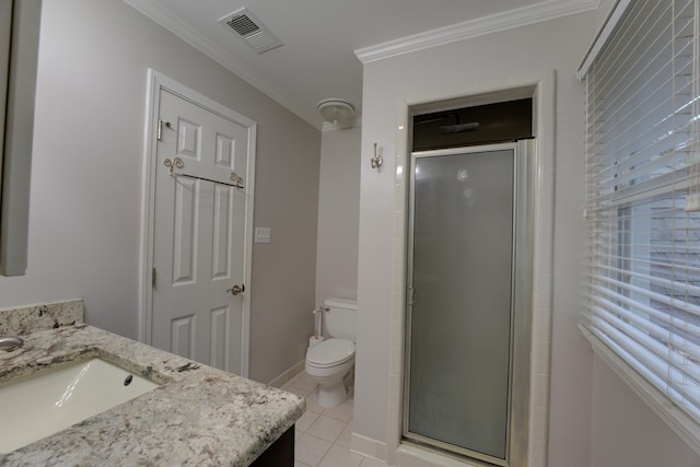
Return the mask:
M 0 352 L 0 383 L 100 357 L 161 387 L 12 453 L 0 465 L 247 466 L 303 415 L 298 396 L 105 330 L 33 332 Z

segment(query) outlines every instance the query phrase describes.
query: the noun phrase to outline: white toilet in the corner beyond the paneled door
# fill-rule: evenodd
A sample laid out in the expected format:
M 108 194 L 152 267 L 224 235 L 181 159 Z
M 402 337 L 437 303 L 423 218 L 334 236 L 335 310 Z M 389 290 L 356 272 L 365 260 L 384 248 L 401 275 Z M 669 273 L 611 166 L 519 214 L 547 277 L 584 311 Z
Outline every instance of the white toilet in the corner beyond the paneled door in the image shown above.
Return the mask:
M 353 300 L 327 299 L 323 320 L 326 339 L 306 350 L 306 373 L 318 383 L 318 404 L 339 406 L 352 390 L 354 327 L 358 304 Z

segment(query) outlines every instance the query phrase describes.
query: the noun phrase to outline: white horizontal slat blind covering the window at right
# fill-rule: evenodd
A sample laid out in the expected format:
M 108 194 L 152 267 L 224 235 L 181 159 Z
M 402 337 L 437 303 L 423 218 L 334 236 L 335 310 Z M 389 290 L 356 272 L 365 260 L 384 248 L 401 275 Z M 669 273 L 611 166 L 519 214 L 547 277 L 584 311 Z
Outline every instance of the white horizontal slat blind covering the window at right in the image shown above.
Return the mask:
M 582 325 L 700 423 L 699 0 L 632 1 L 586 83 Z M 700 195 L 699 195 L 700 196 Z

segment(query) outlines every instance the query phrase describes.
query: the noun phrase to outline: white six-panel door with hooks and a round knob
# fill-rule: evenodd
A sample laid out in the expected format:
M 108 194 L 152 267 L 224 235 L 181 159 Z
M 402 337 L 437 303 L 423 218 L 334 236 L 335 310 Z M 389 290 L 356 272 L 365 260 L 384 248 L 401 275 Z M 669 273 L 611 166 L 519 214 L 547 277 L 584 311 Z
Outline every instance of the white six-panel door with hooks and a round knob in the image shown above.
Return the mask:
M 159 102 L 151 343 L 241 374 L 250 129 L 165 89 Z

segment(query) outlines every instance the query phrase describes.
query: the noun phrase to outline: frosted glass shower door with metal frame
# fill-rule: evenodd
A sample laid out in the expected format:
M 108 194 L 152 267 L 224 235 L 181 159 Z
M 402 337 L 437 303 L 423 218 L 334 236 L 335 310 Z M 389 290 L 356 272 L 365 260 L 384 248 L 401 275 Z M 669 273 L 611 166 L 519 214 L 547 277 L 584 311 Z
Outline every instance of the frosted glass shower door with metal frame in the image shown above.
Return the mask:
M 528 145 L 411 154 L 404 439 L 527 465 Z

